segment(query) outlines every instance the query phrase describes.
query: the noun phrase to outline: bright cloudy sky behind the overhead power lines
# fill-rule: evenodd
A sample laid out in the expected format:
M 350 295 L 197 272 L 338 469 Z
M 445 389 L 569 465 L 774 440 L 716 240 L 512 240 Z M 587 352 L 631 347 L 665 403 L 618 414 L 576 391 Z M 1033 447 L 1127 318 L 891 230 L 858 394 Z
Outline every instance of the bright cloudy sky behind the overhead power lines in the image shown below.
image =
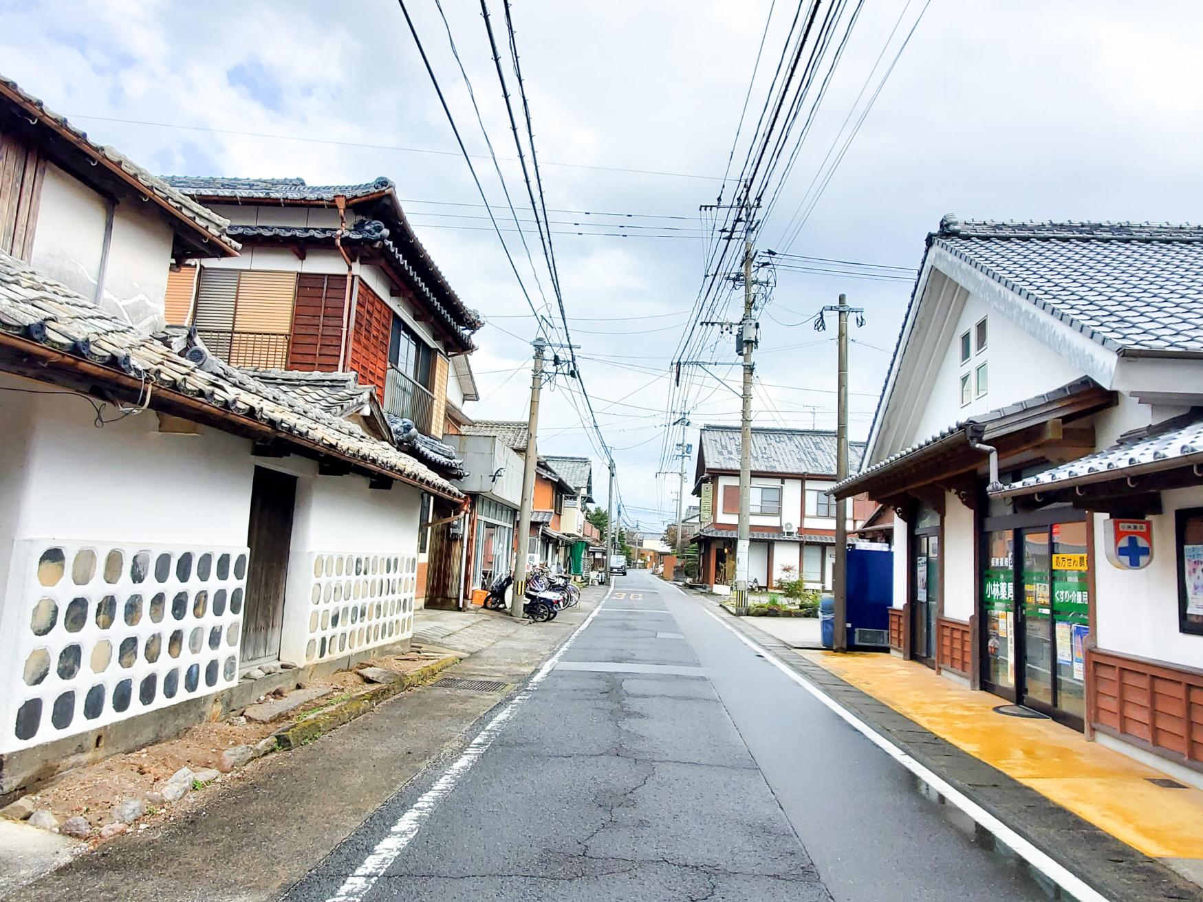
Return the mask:
M 816 200 L 812 184 L 824 183 L 816 177 L 835 159 L 841 126 L 857 120 L 924 2 L 864 0 L 758 239 L 760 250 L 899 267 L 875 271 L 895 278 L 777 271 L 760 319 L 758 426 L 834 427 L 834 322 L 818 333 L 811 321 L 846 293 L 865 309 L 865 325 L 852 330 L 849 422 L 853 438 L 866 437 L 912 289 L 903 271 L 919 266 L 946 213 L 1199 220 L 1203 5 L 1166 0 L 931 0 Z M 407 4 L 526 295 L 551 310 L 538 236 L 527 236 L 532 266 L 439 10 L 434 0 Z M 488 8 L 504 42 L 500 1 Z M 645 530 L 675 517 L 678 480 L 662 471 L 677 465 L 680 435 L 669 423 L 680 411 L 665 407 L 669 363 L 705 271 L 709 220 L 699 206 L 718 197 L 745 97 L 754 118 L 795 8 L 790 0 L 512 0 L 580 376 L 614 449 L 624 520 Z M 443 0 L 443 12 L 531 230 L 480 4 Z M 0 0 L 0 73 L 154 171 L 392 179 L 443 273 L 488 321 L 472 356 L 481 399 L 467 413 L 526 419 L 535 321 L 397 4 Z M 511 71 L 508 79 L 512 91 Z M 735 144 L 736 170 L 749 125 Z M 807 208 L 790 241 L 788 224 Z M 703 334 L 716 364 L 686 379 L 694 451 L 697 427 L 734 425 L 740 407 L 731 338 Z M 544 392 L 540 453 L 592 456 L 604 504 L 602 455 L 570 382 L 558 376 Z M 697 500 L 693 461 L 688 471 L 687 504 Z

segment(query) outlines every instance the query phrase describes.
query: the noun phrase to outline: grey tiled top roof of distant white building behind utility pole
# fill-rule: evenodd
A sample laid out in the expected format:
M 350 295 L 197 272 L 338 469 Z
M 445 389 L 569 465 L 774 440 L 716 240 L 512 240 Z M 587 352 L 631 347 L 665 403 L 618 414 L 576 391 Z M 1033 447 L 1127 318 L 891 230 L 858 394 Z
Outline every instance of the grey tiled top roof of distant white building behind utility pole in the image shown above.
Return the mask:
M 740 427 L 701 427 L 701 453 L 711 470 L 740 468 Z M 864 441 L 848 443 L 848 469 L 855 473 Z M 826 429 L 752 429 L 753 473 L 805 473 L 834 476 L 835 433 Z

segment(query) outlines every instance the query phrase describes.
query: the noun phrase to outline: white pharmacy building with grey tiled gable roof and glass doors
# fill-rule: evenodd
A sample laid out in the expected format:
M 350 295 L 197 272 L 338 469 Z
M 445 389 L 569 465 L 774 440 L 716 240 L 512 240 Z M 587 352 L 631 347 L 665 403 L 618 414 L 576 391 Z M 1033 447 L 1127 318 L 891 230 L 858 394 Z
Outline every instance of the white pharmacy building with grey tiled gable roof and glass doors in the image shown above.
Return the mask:
M 1203 229 L 946 216 L 859 474 L 907 658 L 1203 785 Z

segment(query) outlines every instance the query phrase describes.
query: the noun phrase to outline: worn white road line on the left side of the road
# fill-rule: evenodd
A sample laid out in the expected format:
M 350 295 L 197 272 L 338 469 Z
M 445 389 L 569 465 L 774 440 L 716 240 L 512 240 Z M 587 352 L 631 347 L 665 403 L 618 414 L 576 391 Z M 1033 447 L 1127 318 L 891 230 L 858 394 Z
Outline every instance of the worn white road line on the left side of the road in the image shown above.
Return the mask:
M 576 630 L 570 635 L 556 653 L 552 654 L 544 665 L 539 669 L 539 672 L 531 677 L 529 682 L 522 688 L 517 695 L 515 695 L 510 702 L 502 708 L 492 720 L 476 734 L 475 738 L 468 743 L 468 748 L 451 762 L 451 765 L 442 773 L 442 776 L 434 781 L 428 790 L 426 790 L 422 796 L 414 802 L 413 807 L 409 808 L 404 814 L 402 814 L 397 823 L 389 829 L 389 835 L 377 843 L 377 847 L 372 850 L 372 854 L 363 859 L 363 864 L 360 865 L 355 873 L 348 877 L 343 885 L 338 888 L 338 891 L 330 896 L 326 902 L 360 902 L 368 890 L 371 890 L 377 880 L 379 880 L 385 872 L 392 866 L 392 862 L 397 860 L 402 850 L 409 845 L 410 841 L 417 836 L 417 831 L 422 829 L 422 825 L 429 819 L 434 809 L 438 808 L 439 802 L 442 802 L 446 796 L 449 796 L 456 788 L 456 784 L 463 778 L 463 776 L 472 770 L 472 766 L 476 764 L 482 754 L 493 744 L 497 735 L 500 732 L 502 728 L 514 717 L 517 710 L 531 698 L 532 693 L 539 687 L 539 683 L 550 673 L 559 659 L 568 651 L 569 646 L 576 641 L 576 637 L 585 631 L 593 618 L 598 616 L 602 606 L 610 598 L 610 593 L 614 592 L 611 588 L 606 592 L 603 599 L 598 603 L 598 606 L 589 611 L 589 616 L 585 618 L 585 622 L 576 628 Z

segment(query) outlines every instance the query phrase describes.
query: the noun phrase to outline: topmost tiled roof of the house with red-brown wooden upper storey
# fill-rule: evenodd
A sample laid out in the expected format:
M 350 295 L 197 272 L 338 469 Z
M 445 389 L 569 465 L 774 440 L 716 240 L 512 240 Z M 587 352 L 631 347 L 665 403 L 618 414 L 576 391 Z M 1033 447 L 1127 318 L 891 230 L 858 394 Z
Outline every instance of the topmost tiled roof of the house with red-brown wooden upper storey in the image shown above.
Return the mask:
M 198 176 L 166 176 L 166 182 L 179 190 L 206 200 L 231 200 L 231 201 L 278 201 L 279 203 L 332 203 L 334 197 L 344 196 L 348 203 L 356 203 L 361 200 L 371 200 L 379 195 L 387 198 L 385 212 L 374 207 L 379 215 L 385 215 L 390 220 L 390 226 L 398 226 L 391 242 L 386 242 L 389 249 L 396 255 L 401 267 L 409 274 L 420 290 L 433 299 L 434 292 L 426 284 L 426 279 L 419 273 L 407 254 L 407 248 L 413 250 L 425 269 L 440 290 L 439 293 L 446 298 L 444 313 L 452 316 L 461 328 L 469 333 L 475 332 L 484 325 L 484 320 L 476 310 L 473 310 L 460 299 L 455 289 L 448 283 L 443 271 L 434 263 L 426 248 L 417 239 L 417 233 L 410 225 L 405 212 L 401 207 L 396 186 L 391 179 L 381 176 L 373 182 L 357 185 L 307 185 L 302 178 L 220 178 Z M 392 221 L 396 220 L 396 221 Z M 395 247 L 398 245 L 398 247 Z M 442 303 L 442 302 L 437 302 Z

